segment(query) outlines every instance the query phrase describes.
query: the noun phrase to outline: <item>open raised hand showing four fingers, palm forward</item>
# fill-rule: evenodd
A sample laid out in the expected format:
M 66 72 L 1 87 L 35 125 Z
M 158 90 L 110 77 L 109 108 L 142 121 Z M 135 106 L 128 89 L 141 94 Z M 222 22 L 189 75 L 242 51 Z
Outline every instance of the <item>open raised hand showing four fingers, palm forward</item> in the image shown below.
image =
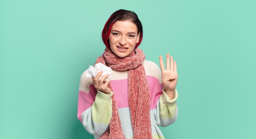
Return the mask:
M 170 62 L 170 59 L 171 59 L 171 62 Z M 168 53 L 166 54 L 166 69 L 164 67 L 162 55 L 159 56 L 159 62 L 160 62 L 160 68 L 162 71 L 162 82 L 163 82 L 164 91 L 170 97 L 170 99 L 173 99 L 175 87 L 178 80 L 176 62 L 173 61 L 173 57 L 172 56 L 170 57 Z

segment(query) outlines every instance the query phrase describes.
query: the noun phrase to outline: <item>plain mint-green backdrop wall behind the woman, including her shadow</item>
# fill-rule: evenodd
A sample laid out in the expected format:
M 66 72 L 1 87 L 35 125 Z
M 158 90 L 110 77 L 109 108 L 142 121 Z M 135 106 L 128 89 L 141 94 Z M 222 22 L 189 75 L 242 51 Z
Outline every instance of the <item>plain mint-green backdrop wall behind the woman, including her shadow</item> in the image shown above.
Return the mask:
M 0 0 L 0 139 L 93 139 L 76 117 L 79 79 L 118 9 L 139 16 L 147 60 L 177 61 L 166 139 L 256 138 L 255 0 Z

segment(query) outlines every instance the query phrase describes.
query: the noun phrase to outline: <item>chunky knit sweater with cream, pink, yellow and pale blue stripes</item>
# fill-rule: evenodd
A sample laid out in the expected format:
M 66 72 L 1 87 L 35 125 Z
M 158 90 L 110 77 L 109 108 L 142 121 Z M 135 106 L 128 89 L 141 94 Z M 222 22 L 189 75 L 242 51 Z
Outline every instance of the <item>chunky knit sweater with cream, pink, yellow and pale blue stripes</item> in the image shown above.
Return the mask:
M 150 120 L 153 139 L 164 139 L 158 126 L 168 126 L 175 122 L 178 115 L 175 90 L 170 100 L 162 87 L 162 75 L 157 64 L 145 60 L 143 66 L 150 91 Z M 94 88 L 92 79 L 86 77 L 86 70 L 80 79 L 77 117 L 85 129 L 98 139 L 103 135 L 112 117 L 112 99 L 110 95 Z M 133 130 L 128 104 L 128 71 L 113 71 L 111 85 L 115 93 L 121 127 L 126 139 L 133 139 Z

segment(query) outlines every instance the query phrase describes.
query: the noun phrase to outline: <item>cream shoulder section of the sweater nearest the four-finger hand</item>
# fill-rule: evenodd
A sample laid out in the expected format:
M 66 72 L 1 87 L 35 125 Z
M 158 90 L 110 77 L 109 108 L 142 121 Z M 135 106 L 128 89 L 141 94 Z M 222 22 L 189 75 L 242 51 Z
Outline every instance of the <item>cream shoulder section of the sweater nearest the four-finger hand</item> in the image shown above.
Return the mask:
M 155 62 L 145 60 L 143 62 L 143 66 L 144 66 L 147 76 L 153 76 L 153 77 L 157 78 L 159 80 L 159 82 L 162 82 L 161 70 Z

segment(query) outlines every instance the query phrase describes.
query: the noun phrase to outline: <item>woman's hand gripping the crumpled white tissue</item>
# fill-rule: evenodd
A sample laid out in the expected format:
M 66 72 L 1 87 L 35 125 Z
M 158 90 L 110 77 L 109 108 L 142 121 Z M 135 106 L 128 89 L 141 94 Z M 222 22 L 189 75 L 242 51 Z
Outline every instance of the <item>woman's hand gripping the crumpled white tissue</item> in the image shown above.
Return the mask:
M 105 79 L 108 78 L 108 74 L 101 77 L 103 71 L 100 71 L 95 77 L 92 76 L 92 84 L 94 87 L 101 92 L 110 95 L 112 92 L 110 88 L 108 88 L 108 84 L 110 83 L 110 80 L 105 81 Z M 101 77 L 101 79 L 99 79 Z

